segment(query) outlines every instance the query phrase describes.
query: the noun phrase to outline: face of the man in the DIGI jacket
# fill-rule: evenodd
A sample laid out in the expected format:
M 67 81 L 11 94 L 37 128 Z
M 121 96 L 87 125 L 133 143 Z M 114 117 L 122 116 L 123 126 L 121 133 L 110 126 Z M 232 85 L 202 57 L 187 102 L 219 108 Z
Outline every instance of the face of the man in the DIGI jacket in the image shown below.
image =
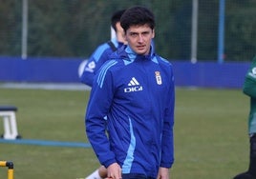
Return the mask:
M 148 25 L 131 26 L 126 30 L 125 36 L 132 50 L 140 55 L 147 55 L 151 40 L 155 37 L 155 30 L 151 30 Z

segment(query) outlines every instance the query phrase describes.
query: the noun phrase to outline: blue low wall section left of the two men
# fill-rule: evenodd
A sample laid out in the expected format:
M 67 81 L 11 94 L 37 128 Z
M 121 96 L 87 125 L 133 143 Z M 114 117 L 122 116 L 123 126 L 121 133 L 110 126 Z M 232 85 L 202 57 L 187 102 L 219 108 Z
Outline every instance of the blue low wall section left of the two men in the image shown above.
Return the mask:
M 0 57 L 2 82 L 79 82 L 80 59 Z

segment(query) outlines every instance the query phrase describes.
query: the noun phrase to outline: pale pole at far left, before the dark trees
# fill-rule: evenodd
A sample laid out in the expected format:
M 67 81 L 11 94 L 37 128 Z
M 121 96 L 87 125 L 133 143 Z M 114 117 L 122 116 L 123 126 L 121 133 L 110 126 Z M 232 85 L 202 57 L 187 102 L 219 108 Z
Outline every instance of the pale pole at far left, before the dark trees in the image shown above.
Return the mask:
M 22 34 L 21 34 L 21 58 L 27 59 L 28 47 L 28 0 L 22 1 Z

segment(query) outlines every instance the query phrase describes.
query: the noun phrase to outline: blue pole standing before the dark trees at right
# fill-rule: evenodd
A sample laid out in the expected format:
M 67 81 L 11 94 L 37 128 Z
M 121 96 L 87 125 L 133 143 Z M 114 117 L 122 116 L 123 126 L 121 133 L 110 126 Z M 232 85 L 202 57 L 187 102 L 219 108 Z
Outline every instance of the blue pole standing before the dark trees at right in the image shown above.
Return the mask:
M 220 0 L 218 63 L 224 63 L 224 0 Z

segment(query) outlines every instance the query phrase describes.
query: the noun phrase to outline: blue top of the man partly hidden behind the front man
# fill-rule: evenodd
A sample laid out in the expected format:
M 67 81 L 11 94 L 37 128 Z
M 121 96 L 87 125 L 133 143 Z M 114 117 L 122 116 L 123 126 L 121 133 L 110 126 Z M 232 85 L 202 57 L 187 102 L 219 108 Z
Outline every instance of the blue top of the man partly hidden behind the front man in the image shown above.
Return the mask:
M 117 49 L 123 45 L 123 43 L 117 42 L 117 39 L 112 39 L 111 41 L 114 47 Z M 108 42 L 101 44 L 96 48 L 94 53 L 88 59 L 87 64 L 83 70 L 83 73 L 80 77 L 81 83 L 88 85 L 90 87 L 93 86 L 94 77 L 96 75 L 96 71 L 100 69 L 100 67 L 109 60 L 109 56 L 114 52 L 114 48 L 112 48 Z

